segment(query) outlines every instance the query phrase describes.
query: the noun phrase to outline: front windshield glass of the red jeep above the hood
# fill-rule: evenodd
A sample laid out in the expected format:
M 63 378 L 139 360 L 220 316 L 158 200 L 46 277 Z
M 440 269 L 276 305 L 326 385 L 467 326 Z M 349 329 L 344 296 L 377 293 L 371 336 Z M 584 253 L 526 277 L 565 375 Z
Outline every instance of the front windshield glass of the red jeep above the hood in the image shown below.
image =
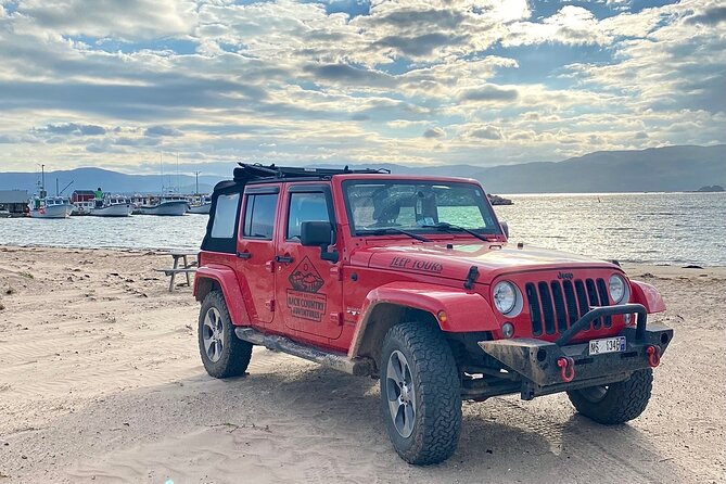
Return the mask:
M 482 189 L 472 183 L 441 181 L 366 181 L 343 183 L 354 234 L 403 229 L 434 233 L 433 226 L 450 224 L 477 233 L 499 234 Z

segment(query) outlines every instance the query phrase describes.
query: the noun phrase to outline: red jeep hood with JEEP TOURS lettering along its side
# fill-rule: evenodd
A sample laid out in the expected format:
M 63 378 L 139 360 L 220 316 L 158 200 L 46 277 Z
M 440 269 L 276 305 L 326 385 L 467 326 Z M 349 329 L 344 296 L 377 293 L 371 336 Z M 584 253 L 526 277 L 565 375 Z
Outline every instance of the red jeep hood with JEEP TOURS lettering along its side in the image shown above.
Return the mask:
M 504 273 L 523 270 L 578 268 L 620 270 L 614 264 L 602 260 L 535 246 L 517 249 L 507 243 L 455 244 L 453 249 L 447 249 L 445 243 L 366 247 L 358 251 L 351 262 L 371 268 L 462 281 L 467 279 L 470 268 L 476 266 L 479 269 L 476 282 L 485 284 Z

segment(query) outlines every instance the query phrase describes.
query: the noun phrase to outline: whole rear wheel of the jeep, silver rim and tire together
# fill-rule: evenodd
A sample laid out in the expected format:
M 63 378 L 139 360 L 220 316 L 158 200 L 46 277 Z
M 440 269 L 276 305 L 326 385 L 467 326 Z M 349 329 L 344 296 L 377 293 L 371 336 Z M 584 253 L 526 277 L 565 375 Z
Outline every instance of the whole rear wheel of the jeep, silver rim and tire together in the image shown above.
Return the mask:
M 220 291 L 212 291 L 204 297 L 198 334 L 202 364 L 211 377 L 244 374 L 252 357 L 252 343 L 234 334 L 225 295 Z

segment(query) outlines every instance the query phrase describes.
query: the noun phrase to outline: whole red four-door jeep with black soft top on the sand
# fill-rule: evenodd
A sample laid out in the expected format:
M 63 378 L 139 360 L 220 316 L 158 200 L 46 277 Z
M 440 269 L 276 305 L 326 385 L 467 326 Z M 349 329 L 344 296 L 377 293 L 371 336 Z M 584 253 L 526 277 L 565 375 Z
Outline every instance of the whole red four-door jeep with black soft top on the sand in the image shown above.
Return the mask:
M 263 345 L 380 378 L 396 451 L 454 454 L 461 400 L 566 392 L 622 423 L 673 336 L 616 263 L 507 242 L 482 186 L 379 170 L 243 165 L 214 191 L 194 294 L 216 378 Z

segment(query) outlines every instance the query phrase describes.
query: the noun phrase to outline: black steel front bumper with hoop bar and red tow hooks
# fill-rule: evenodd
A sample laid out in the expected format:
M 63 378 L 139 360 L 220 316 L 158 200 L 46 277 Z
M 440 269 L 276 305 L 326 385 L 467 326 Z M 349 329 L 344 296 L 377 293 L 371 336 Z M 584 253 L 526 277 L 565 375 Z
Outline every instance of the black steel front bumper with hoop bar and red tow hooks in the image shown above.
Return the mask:
M 626 314 L 638 315 L 637 327 L 608 335 L 625 336 L 625 352 L 590 356 L 588 343 L 568 344 L 579 331 L 589 328 L 595 319 Z M 647 318 L 646 308 L 640 304 L 597 307 L 573 323 L 555 343 L 513 339 L 480 341 L 479 346 L 508 371 L 521 377 L 522 398 L 528 400 L 551 393 L 627 380 L 634 371 L 654 366 L 653 353 L 660 357 L 665 352 L 673 339 L 673 330 L 660 323 L 648 324 Z M 571 368 L 565 369 L 573 373 L 558 365 L 562 361 L 569 361 Z

